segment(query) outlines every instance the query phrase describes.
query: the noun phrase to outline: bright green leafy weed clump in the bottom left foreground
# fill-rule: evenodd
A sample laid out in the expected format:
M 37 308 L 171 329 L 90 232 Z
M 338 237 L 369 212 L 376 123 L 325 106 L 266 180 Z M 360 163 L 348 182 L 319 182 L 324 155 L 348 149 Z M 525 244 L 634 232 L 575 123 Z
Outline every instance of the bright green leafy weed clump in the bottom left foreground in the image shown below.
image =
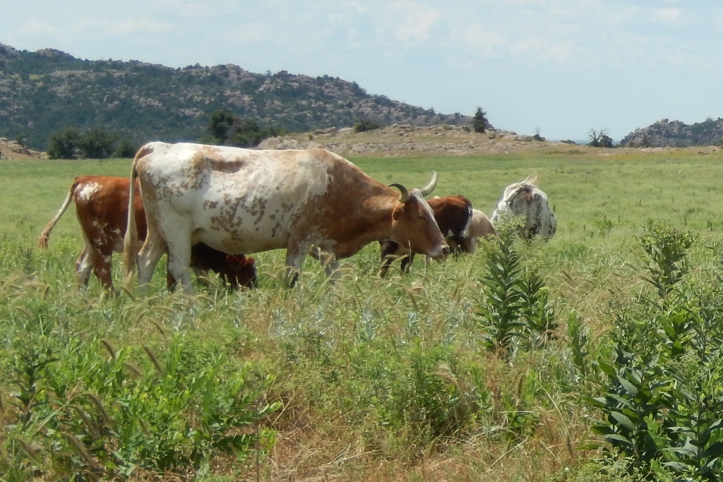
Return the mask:
M 17 347 L 15 470 L 42 470 L 43 460 L 77 480 L 202 470 L 215 452 L 249 452 L 257 438 L 244 428 L 279 408 L 258 403 L 269 379 L 250 364 L 224 369 L 217 347 L 176 335 L 165 349 L 142 348 L 45 336 Z

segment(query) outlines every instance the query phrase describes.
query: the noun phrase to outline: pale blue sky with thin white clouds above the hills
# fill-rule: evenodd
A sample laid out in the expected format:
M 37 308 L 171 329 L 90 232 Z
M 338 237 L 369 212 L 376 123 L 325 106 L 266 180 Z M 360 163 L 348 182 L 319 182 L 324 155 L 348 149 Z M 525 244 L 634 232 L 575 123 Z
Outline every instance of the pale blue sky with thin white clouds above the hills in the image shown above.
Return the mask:
M 235 64 L 547 139 L 723 117 L 720 0 L 0 0 L 0 43 Z

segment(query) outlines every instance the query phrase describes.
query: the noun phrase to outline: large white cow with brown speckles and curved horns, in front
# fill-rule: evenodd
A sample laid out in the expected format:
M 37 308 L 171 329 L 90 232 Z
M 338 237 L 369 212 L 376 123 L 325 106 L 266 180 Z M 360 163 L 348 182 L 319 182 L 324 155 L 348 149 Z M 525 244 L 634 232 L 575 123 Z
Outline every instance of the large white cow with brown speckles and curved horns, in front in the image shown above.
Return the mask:
M 286 249 L 286 283 L 294 285 L 312 246 L 331 275 L 338 259 L 372 241 L 391 239 L 441 258 L 449 253 L 424 196 L 436 184 L 401 191 L 370 178 L 327 150 L 248 150 L 151 142 L 140 148 L 131 179 L 140 180 L 148 234 L 140 252 L 134 217 L 124 241 L 127 283 L 137 262 L 140 285 L 168 248 L 168 270 L 192 292 L 189 261 L 199 242 L 226 252 Z M 131 184 L 129 212 L 134 210 Z

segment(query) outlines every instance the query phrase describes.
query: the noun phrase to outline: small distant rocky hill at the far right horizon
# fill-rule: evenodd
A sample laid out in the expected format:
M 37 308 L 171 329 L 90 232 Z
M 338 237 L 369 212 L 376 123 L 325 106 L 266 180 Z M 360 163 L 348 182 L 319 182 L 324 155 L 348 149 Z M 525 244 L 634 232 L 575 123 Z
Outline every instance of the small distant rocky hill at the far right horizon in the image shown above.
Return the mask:
M 688 147 L 720 145 L 723 142 L 723 119 L 708 119 L 696 124 L 662 119 L 655 124 L 636 129 L 623 137 L 623 147 Z

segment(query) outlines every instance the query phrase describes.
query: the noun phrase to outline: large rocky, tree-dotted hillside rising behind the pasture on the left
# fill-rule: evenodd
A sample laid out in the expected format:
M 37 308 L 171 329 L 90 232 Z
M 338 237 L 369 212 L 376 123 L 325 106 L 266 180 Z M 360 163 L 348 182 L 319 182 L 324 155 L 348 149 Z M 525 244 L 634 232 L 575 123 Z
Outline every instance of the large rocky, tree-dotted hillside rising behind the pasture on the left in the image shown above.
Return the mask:
M 470 106 L 473 109 L 475 106 Z M 281 71 L 254 74 L 236 65 L 183 69 L 140 61 L 88 61 L 45 49 L 0 44 L 0 136 L 25 136 L 46 150 L 64 127 L 107 129 L 140 144 L 195 140 L 208 134 L 210 113 L 228 108 L 262 127 L 291 132 L 382 124 L 461 125 L 471 117 L 369 95 L 356 82 Z

